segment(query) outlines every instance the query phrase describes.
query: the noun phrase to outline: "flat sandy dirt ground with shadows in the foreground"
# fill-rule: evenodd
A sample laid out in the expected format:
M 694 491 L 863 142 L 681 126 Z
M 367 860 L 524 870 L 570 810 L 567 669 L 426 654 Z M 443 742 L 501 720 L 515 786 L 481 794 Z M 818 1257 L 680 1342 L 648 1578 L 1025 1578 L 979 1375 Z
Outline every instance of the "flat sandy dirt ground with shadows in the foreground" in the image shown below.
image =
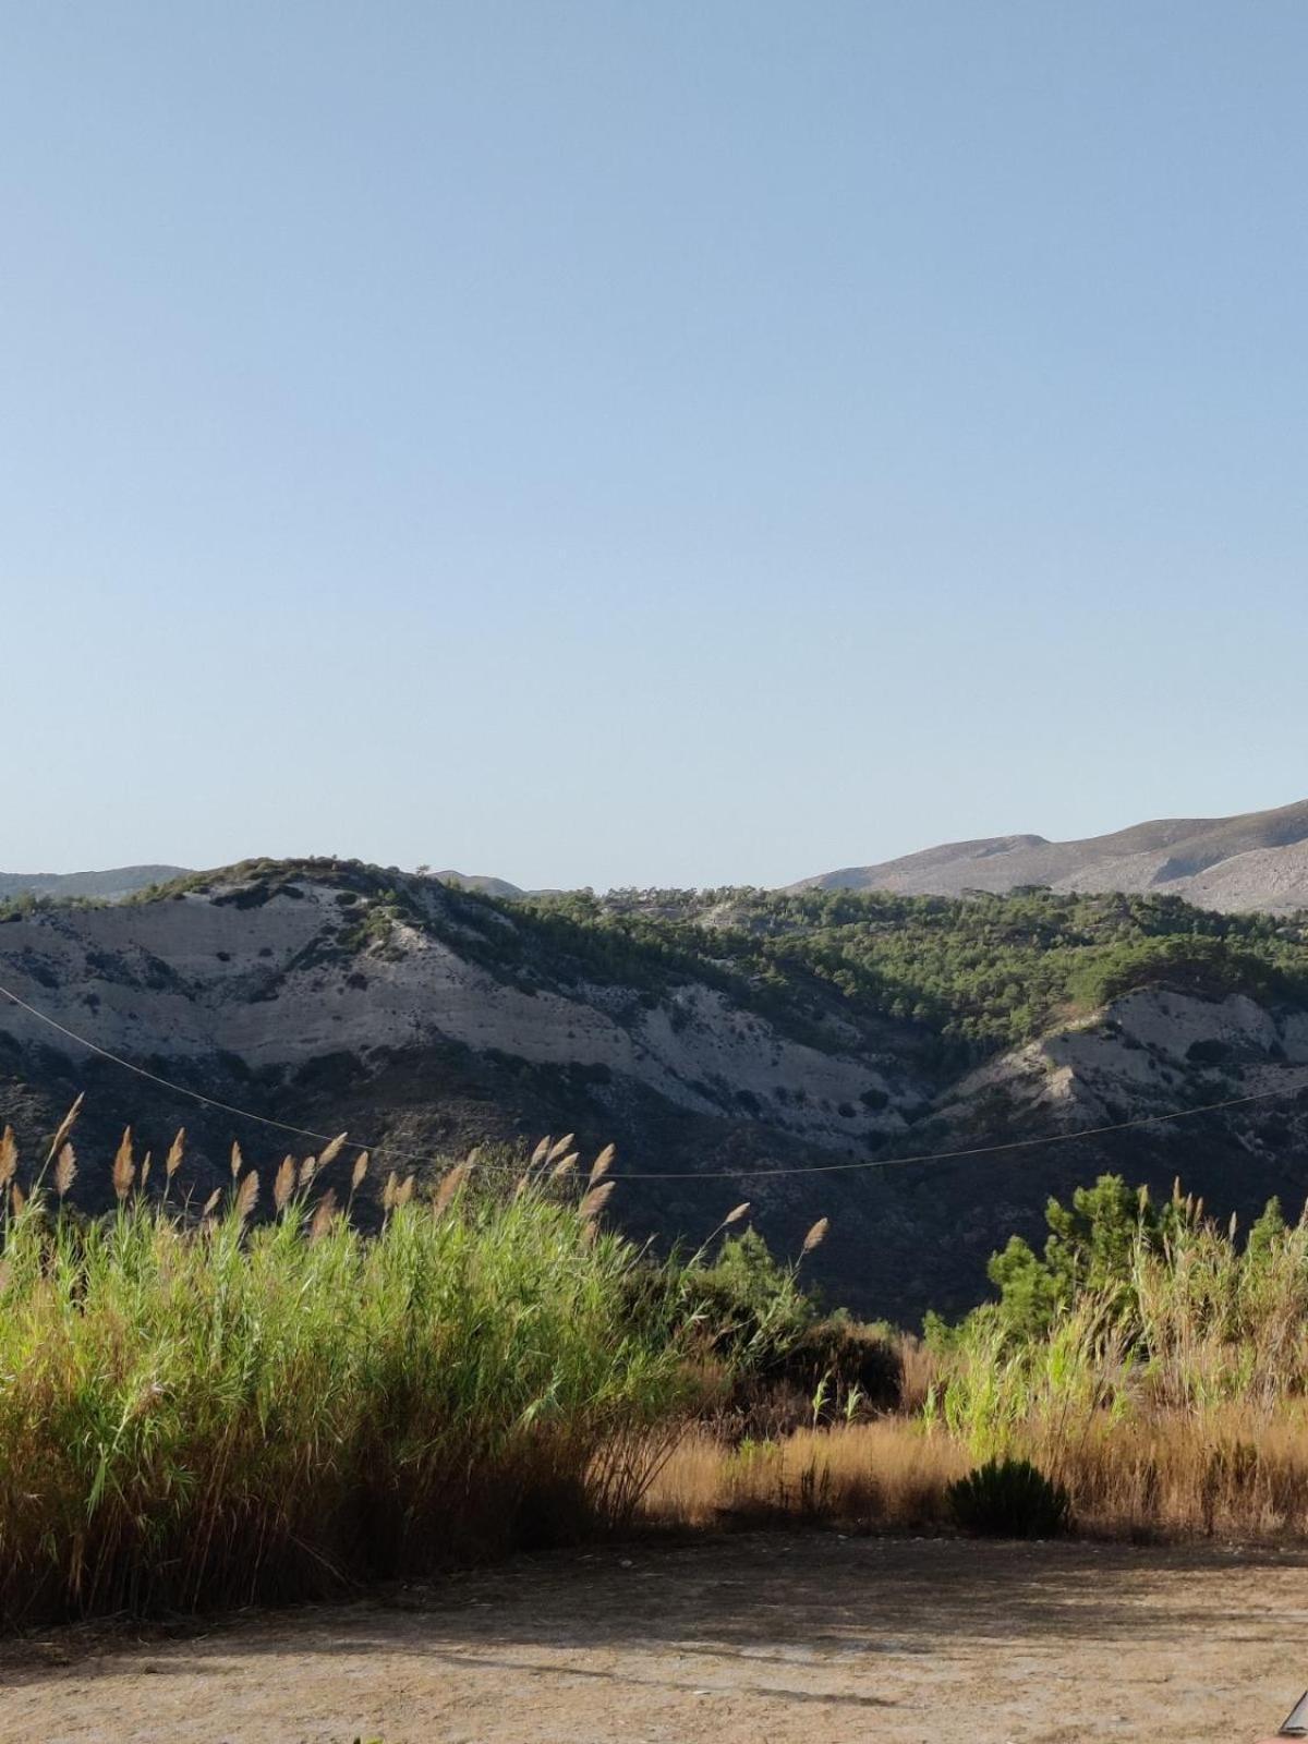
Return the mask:
M 0 1648 L 3 1744 L 1252 1741 L 1308 1557 L 745 1535 L 520 1559 L 187 1638 Z

